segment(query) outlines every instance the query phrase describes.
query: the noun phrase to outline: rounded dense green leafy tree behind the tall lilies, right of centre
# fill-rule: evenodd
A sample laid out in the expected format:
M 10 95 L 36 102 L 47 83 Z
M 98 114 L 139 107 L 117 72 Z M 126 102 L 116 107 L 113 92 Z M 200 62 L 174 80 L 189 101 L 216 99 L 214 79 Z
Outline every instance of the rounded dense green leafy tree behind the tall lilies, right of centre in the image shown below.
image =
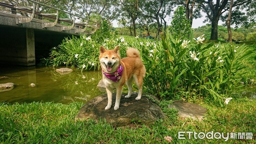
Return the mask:
M 186 19 L 185 8 L 183 6 L 179 6 L 172 18 L 170 32 L 173 37 L 178 37 L 180 39 L 184 39 L 190 34 L 190 21 Z

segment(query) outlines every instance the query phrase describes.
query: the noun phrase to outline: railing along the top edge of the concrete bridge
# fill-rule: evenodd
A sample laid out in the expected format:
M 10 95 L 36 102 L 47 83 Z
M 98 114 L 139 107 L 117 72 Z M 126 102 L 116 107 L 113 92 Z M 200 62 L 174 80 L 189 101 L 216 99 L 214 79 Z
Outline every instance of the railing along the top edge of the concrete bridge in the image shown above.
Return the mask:
M 47 13 L 43 9 L 53 13 Z M 0 15 L 15 17 L 18 25 L 33 20 L 42 23 L 42 28 L 58 25 L 61 26 L 61 31 L 75 29 L 76 33 L 93 33 L 98 26 L 94 21 L 34 0 L 0 0 Z

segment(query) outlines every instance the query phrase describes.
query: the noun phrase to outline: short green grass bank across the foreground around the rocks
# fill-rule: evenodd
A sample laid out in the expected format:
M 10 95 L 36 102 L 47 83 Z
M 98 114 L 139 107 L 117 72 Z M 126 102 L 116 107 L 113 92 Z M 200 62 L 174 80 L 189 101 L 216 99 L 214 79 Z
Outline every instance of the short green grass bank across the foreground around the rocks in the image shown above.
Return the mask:
M 105 121 L 75 121 L 81 103 L 69 105 L 53 103 L 0 104 L 0 143 L 255 143 L 256 142 L 256 100 L 233 99 L 224 107 L 198 102 L 207 107 L 204 121 L 176 117 L 176 111 L 161 106 L 171 121 L 158 121 L 146 126 L 133 124 L 128 127 L 112 127 Z M 226 142 L 221 139 L 179 140 L 178 132 L 253 132 L 253 139 Z

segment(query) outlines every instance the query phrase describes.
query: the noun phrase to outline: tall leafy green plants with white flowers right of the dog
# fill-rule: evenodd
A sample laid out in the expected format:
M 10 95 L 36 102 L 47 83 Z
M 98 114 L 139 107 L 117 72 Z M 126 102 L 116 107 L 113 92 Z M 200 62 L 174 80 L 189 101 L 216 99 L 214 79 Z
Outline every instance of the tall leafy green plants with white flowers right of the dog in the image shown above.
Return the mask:
M 204 97 L 222 105 L 241 87 L 242 60 L 255 56 L 255 50 L 230 43 L 203 44 L 203 40 L 175 40 L 167 33 L 154 49 L 143 49 L 146 90 L 160 99 Z

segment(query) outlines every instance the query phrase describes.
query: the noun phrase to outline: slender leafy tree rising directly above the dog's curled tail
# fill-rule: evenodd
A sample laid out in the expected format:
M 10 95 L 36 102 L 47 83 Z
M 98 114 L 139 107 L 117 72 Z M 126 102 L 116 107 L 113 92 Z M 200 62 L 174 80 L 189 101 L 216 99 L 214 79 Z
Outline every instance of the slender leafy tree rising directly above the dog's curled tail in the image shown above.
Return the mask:
M 120 0 L 123 9 L 125 12 L 128 13 L 128 15 L 131 18 L 132 26 L 133 26 L 133 31 L 134 31 L 134 36 L 136 36 L 136 23 L 135 20 L 138 18 L 140 14 L 140 9 L 139 9 L 139 0 Z

